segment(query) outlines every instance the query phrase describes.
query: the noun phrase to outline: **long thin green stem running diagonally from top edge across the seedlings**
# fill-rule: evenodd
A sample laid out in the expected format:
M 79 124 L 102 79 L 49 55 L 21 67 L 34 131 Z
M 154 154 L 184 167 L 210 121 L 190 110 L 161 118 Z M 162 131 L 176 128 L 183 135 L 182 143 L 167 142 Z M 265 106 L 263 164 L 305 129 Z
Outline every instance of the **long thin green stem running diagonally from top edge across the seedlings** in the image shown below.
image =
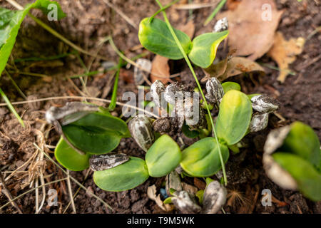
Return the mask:
M 161 8 L 163 8 L 161 2 L 159 0 L 156 0 L 158 6 L 160 6 Z M 220 150 L 220 144 L 218 142 L 218 136 L 216 135 L 216 130 L 215 130 L 215 126 L 214 126 L 214 123 L 213 123 L 213 118 L 212 118 L 212 114 L 210 113 L 210 109 L 208 108 L 208 103 L 205 99 L 205 95 L 203 93 L 203 90 L 202 88 L 200 87 L 200 83 L 198 82 L 198 78 L 196 77 L 196 74 L 195 74 L 195 71 L 193 69 L 193 66 L 192 64 L 190 63 L 190 60 L 188 59 L 188 56 L 186 55 L 182 45 L 180 44 L 180 41 L 178 40 L 178 37 L 176 36 L 172 26 L 170 25 L 170 21 L 168 21 L 168 18 L 166 16 L 166 13 L 165 11 L 162 11 L 163 13 L 163 16 L 164 16 L 164 19 L 165 19 L 165 23 L 167 24 L 168 26 L 168 29 L 170 30 L 170 33 L 172 34 L 178 48 L 180 49 L 180 52 L 183 54 L 184 58 L 185 58 L 185 61 L 186 63 L 188 64 L 188 67 L 190 68 L 190 71 L 192 72 L 193 74 L 193 77 L 195 78 L 195 81 L 196 81 L 196 84 L 198 85 L 198 89 L 200 90 L 200 94 L 202 95 L 203 97 L 203 100 L 204 100 L 204 104 L 205 104 L 205 107 L 206 107 L 206 110 L 208 110 L 208 115 L 210 117 L 210 124 L 212 125 L 212 128 L 213 128 L 213 133 L 214 133 L 214 136 L 215 136 L 215 141 L 216 143 L 218 144 L 218 154 L 219 154 L 219 157 L 220 157 L 220 163 L 222 165 L 222 171 L 223 171 L 223 177 L 224 177 L 224 183 L 225 185 L 228 184 L 228 178 L 226 177 L 226 172 L 225 172 L 225 165 L 224 165 L 224 161 L 223 161 L 223 156 L 222 156 L 222 152 Z

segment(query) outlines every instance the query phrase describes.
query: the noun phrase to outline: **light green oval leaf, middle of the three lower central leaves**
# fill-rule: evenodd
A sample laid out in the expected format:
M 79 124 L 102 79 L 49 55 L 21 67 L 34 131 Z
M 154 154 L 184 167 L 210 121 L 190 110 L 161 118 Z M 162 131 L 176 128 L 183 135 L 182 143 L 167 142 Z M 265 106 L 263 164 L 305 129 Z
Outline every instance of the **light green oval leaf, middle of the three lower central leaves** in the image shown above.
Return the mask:
M 146 164 L 151 177 L 163 177 L 178 166 L 182 154 L 178 144 L 168 135 L 162 135 L 146 153 Z

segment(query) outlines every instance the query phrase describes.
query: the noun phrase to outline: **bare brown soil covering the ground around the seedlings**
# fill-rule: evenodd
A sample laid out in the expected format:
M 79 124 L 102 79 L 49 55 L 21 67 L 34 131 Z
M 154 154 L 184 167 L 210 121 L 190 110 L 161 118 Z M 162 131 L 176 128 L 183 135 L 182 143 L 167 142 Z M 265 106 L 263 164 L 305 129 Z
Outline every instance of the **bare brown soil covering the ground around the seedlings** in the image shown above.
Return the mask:
M 25 5 L 27 1 L 18 1 Z M 102 38 L 112 35 L 116 46 L 132 58 L 141 53 L 148 53 L 140 48 L 137 29 L 129 25 L 121 16 L 119 16 L 103 1 L 68 1 L 60 0 L 63 11 L 67 17 L 58 22 L 46 22 L 52 28 L 56 29 L 70 41 L 88 51 L 98 52 L 101 56 L 108 58 L 111 62 L 118 61 L 117 54 L 110 45 L 99 45 Z M 134 24 L 146 16 L 151 16 L 158 10 L 154 1 L 111 1 L 124 14 L 130 16 Z M 162 1 L 168 4 L 170 1 Z M 196 1 L 195 1 L 196 2 Z M 201 1 L 208 2 L 208 1 Z M 320 1 L 297 1 L 277 0 L 277 9 L 284 9 L 282 19 L 277 28 L 285 38 L 307 36 L 312 33 L 321 24 Z M 2 7 L 13 9 L 13 7 L 4 1 L 0 4 Z M 202 27 L 203 20 L 213 9 L 204 8 L 193 11 L 195 33 L 211 31 L 215 20 L 208 26 Z M 223 8 L 226 10 L 226 6 Z M 47 21 L 39 11 L 32 11 L 33 14 L 43 21 Z M 178 11 L 173 8 L 168 9 L 170 21 L 173 26 L 178 27 L 186 23 L 188 11 Z M 158 15 L 161 18 L 160 15 Z M 300 120 L 307 123 L 321 139 L 321 64 L 320 64 L 320 42 L 321 34 L 316 33 L 305 43 L 304 51 L 297 56 L 297 60 L 291 64 L 290 68 L 295 71 L 295 76 L 288 76 L 285 83 L 277 82 L 278 71 L 271 68 L 265 68 L 265 76 L 235 76 L 228 78 L 229 81 L 235 81 L 241 84 L 245 93 L 267 93 L 277 98 L 281 103 L 280 110 L 277 113 L 280 116 L 272 115 L 267 129 L 260 133 L 250 134 L 247 140 L 249 147 L 242 149 L 238 155 L 231 155 L 227 163 L 229 174 L 228 191 L 231 196 L 237 196 L 238 200 L 228 200 L 224 210 L 228 213 L 321 213 L 321 202 L 311 202 L 303 197 L 300 192 L 282 190 L 267 178 L 262 167 L 263 145 L 270 129 L 278 128 L 282 125 Z M 61 53 L 70 53 L 73 51 L 69 46 L 59 41 L 50 33 L 45 31 L 34 21 L 27 18 L 19 31 L 16 45 L 13 52 L 14 59 L 28 58 L 34 56 L 46 57 L 56 56 Z M 218 59 L 226 56 L 227 50 L 220 46 Z M 91 71 L 101 68 L 103 61 L 91 56 L 80 55 L 83 62 L 88 66 L 91 64 Z M 147 58 L 153 59 L 153 54 L 148 53 Z M 276 66 L 271 58 L 263 56 L 257 60 L 259 63 Z M 84 73 L 81 63 L 75 55 L 69 55 L 65 58 L 59 58 L 54 61 L 23 61 L 16 63 L 16 68 L 21 72 L 36 72 L 46 76 L 46 78 L 37 78 L 25 75 L 12 74 L 14 81 L 18 84 L 27 98 L 48 98 L 60 95 L 81 95 L 79 90 L 81 83 L 78 79 L 73 81 L 66 80 L 66 76 L 78 75 Z M 170 73 L 180 73 L 180 77 L 173 81 L 181 81 L 185 85 L 195 85 L 193 77 L 188 71 L 183 61 L 170 61 Z M 199 79 L 203 78 L 203 71 L 196 68 Z M 89 78 L 88 94 L 98 98 L 111 98 L 110 90 L 113 85 L 114 72 L 101 73 L 98 76 Z M 118 100 L 125 91 L 138 93 L 138 89 L 133 85 L 133 66 L 124 67 L 121 70 L 121 79 L 118 86 Z M 72 83 L 73 82 L 73 83 Z M 8 77 L 2 76 L 0 87 L 10 100 L 24 100 L 17 93 Z M 71 99 L 69 99 L 71 100 Z M 46 124 L 44 112 L 51 105 L 63 105 L 66 100 L 49 100 L 39 103 L 29 103 L 25 105 L 16 105 L 19 114 L 23 116 L 26 128 L 22 128 L 14 115 L 7 108 L 0 107 L 0 170 L 4 178 L 9 176 L 9 172 L 16 170 L 17 167 L 24 165 L 25 162 L 32 160 L 21 171 L 6 181 L 6 185 L 11 191 L 11 195 L 16 197 L 23 192 L 34 187 L 35 182 L 39 182 L 39 173 L 42 171 L 46 182 L 61 179 L 66 175 L 61 172 L 49 160 L 46 162 L 36 161 L 36 157 L 41 157 L 38 150 L 34 147 L 34 142 L 44 147 L 51 157 L 53 156 L 53 147 L 58 142 L 59 136 L 56 131 Z M 103 105 L 103 103 L 98 103 Z M 104 104 L 105 105 L 105 104 Z M 117 107 L 113 115 L 121 115 L 121 107 Z M 195 140 L 185 138 L 183 134 L 173 135 L 178 140 L 178 136 L 183 138 L 185 145 L 190 145 Z M 45 140 L 44 140 L 45 139 Z M 116 149 L 118 152 L 124 152 L 128 155 L 144 157 L 145 153 L 141 150 L 132 138 L 121 140 Z M 133 190 L 125 192 L 105 192 L 100 190 L 93 183 L 92 172 L 87 170 L 83 172 L 70 172 L 70 175 L 78 182 L 83 182 L 87 192 L 79 190 L 74 202 L 77 213 L 164 213 L 155 202 L 147 197 L 147 188 L 156 185 L 159 190 L 162 187 L 164 178 L 150 177 L 143 185 Z M 218 180 L 217 177 L 213 177 Z M 199 189 L 205 187 L 203 180 L 192 177 L 185 177 L 184 182 L 193 185 Z M 39 185 L 41 183 L 39 182 Z M 70 202 L 68 187 L 66 181 L 56 182 L 46 187 L 55 189 L 58 192 L 58 206 L 49 207 L 44 202 L 44 207 L 40 213 L 63 213 L 67 204 Z M 4 189 L 4 188 L 2 188 Z M 78 190 L 78 185 L 71 181 L 73 192 Z M 263 207 L 261 204 L 262 190 L 269 189 L 272 192 L 272 206 Z M 1 186 L 0 186 L 1 192 Z M 4 191 L 3 191 L 4 192 Z M 113 210 L 108 209 L 96 198 L 91 197 L 90 192 L 94 193 L 104 202 L 108 203 Z M 43 192 L 39 189 L 39 202 L 42 199 Z M 47 198 L 46 198 L 47 199 Z M 8 202 L 4 194 L 0 195 L 0 205 Z M 36 193 L 31 191 L 23 197 L 16 199 L 16 203 L 24 213 L 34 213 L 36 209 Z M 1 207 L 1 206 L 0 206 Z M 72 213 L 72 207 L 66 209 L 66 213 Z M 175 212 L 175 211 L 173 211 Z M 9 205 L 4 207 L 0 213 L 16 213 L 15 207 Z M 171 212 L 170 212 L 171 213 Z M 222 212 L 220 212 L 222 213 Z

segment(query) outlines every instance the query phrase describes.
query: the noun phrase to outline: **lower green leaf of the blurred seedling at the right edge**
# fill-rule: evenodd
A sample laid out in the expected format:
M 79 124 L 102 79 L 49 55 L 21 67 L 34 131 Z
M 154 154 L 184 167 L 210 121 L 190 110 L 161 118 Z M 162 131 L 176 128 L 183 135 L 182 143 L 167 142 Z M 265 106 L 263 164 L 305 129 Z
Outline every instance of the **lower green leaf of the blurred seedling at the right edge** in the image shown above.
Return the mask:
M 321 174 L 310 162 L 289 152 L 275 152 L 272 157 L 295 179 L 303 195 L 313 201 L 321 200 Z

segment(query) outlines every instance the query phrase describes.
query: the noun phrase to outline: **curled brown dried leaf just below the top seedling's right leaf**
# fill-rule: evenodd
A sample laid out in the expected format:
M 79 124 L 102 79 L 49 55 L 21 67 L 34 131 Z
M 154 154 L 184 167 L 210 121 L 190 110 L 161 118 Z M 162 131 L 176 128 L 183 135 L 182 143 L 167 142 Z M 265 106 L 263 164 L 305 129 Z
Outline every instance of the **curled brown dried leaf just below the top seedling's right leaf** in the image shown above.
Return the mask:
M 264 69 L 254 61 L 244 57 L 225 58 L 219 63 L 212 64 L 210 67 L 204 69 L 205 73 L 210 77 L 218 78 L 220 81 L 224 81 L 232 76 L 237 76 L 241 73 L 248 73 L 258 71 L 264 74 Z M 202 80 L 203 81 L 203 80 Z

